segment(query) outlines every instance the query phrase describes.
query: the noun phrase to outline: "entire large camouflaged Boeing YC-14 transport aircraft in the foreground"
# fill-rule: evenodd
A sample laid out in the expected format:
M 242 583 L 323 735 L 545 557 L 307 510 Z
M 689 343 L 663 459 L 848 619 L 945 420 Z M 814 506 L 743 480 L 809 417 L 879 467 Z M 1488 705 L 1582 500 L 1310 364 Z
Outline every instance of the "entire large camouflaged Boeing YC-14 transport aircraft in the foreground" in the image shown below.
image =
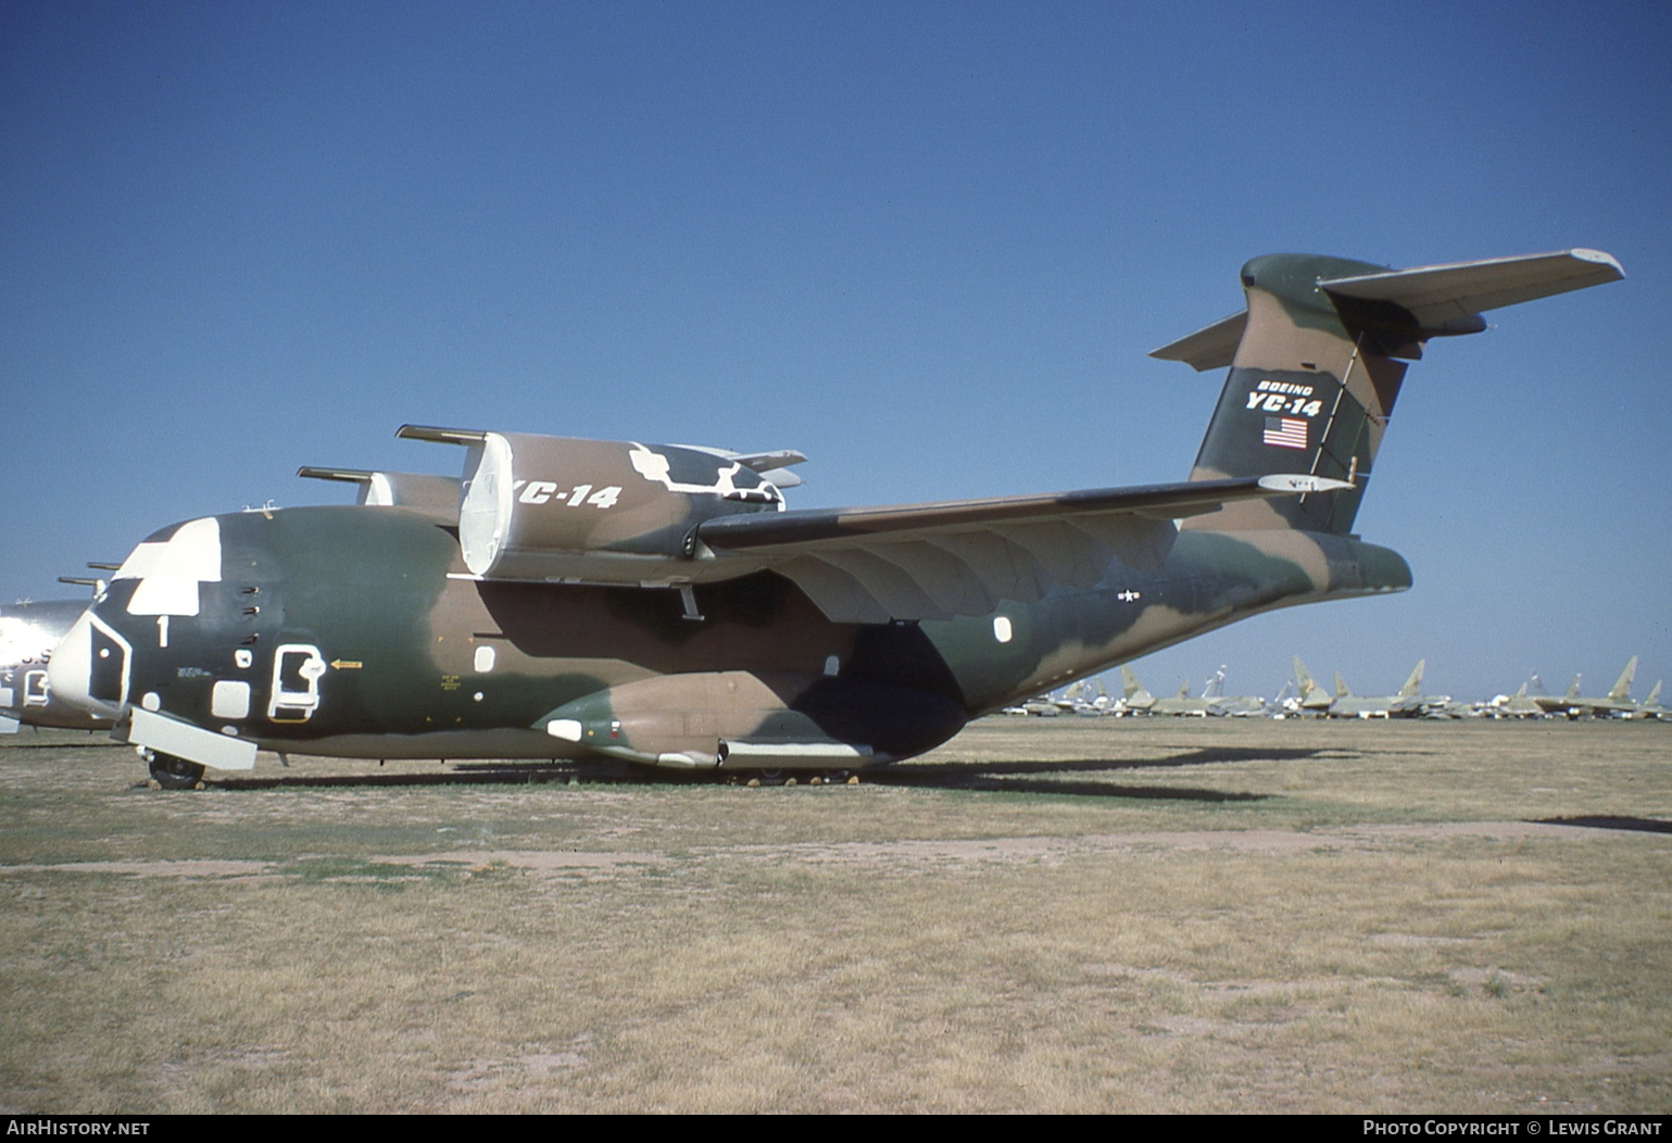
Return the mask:
M 1231 366 L 1172 485 L 788 510 L 788 450 L 406 426 L 466 450 L 456 520 L 368 498 L 171 525 L 62 640 L 52 685 L 169 785 L 257 749 L 911 757 L 1239 618 L 1408 588 L 1396 551 L 1353 535 L 1406 363 L 1483 331 L 1480 311 L 1620 276 L 1595 251 L 1257 257 L 1242 311 L 1154 354 Z

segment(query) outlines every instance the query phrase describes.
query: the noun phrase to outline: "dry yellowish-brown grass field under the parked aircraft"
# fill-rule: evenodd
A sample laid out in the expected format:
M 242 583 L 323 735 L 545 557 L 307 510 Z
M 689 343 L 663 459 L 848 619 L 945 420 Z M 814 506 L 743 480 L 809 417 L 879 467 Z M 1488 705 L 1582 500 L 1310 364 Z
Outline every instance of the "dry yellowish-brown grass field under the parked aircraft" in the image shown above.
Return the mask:
M 5 1111 L 1672 1110 L 1669 725 L 142 777 L 0 745 Z

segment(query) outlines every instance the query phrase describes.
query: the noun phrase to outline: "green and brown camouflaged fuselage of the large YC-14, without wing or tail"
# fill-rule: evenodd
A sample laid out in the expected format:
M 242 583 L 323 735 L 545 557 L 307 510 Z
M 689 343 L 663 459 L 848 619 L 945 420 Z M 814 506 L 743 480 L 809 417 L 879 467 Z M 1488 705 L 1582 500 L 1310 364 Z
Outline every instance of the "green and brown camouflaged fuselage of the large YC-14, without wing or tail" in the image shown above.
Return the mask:
M 761 572 L 697 585 L 702 618 L 687 618 L 674 590 L 473 578 L 453 528 L 403 508 L 214 526 L 221 578 L 196 585 L 196 615 L 130 613 L 144 580 L 112 582 L 95 608 L 92 697 L 348 757 L 884 762 L 1237 618 L 1409 587 L 1396 553 L 1341 536 L 1185 531 L 1160 566 L 1117 561 L 1092 590 L 985 617 L 833 623 Z

